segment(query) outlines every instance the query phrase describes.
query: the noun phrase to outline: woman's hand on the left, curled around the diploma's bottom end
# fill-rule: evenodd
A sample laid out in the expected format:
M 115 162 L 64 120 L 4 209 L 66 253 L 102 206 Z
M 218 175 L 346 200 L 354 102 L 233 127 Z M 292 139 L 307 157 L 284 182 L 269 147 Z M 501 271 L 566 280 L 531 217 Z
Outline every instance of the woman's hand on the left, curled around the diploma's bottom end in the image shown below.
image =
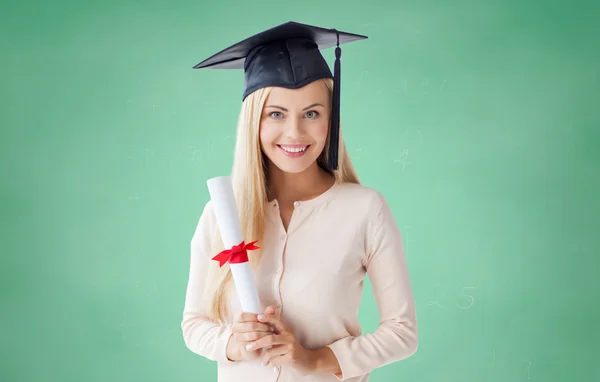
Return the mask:
M 275 314 L 275 307 L 269 306 L 264 314 Z M 241 313 L 231 327 L 233 335 L 227 343 L 227 358 L 231 361 L 258 359 L 261 350 L 247 351 L 246 345 L 260 338 L 273 334 L 271 324 L 260 322 L 254 313 Z

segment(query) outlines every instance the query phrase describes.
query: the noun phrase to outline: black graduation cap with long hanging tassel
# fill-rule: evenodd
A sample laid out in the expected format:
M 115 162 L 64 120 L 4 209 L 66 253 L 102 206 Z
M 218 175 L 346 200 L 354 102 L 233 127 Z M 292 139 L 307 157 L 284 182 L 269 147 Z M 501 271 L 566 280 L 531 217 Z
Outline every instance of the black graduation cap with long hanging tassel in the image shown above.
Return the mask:
M 289 21 L 214 54 L 194 66 L 214 69 L 244 69 L 242 100 L 255 90 L 267 86 L 297 89 L 321 78 L 333 78 L 331 134 L 327 166 L 338 167 L 340 123 L 340 44 L 366 39 L 341 32 Z M 336 46 L 334 75 L 320 50 Z

